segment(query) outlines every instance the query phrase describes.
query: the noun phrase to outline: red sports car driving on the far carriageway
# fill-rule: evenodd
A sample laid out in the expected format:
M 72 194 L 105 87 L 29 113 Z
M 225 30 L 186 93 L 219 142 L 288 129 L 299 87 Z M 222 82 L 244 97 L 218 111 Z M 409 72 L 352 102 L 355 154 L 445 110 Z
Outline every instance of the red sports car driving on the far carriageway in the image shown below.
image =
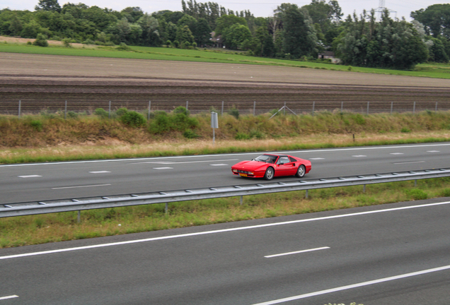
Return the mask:
M 311 171 L 311 162 L 291 155 L 264 154 L 251 161 L 242 161 L 231 167 L 233 174 L 241 177 L 264 178 L 293 176 L 304 177 Z

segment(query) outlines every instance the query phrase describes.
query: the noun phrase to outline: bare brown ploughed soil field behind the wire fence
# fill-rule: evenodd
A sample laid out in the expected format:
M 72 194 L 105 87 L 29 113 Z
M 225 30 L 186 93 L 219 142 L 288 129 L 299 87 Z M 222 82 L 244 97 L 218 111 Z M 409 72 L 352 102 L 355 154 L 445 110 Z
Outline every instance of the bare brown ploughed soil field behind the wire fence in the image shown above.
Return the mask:
M 192 113 L 237 107 L 265 113 L 286 102 L 293 112 L 342 109 L 393 112 L 450 109 L 449 80 L 325 71 L 312 68 L 212 64 L 0 53 L 0 113 L 92 112 L 127 107 Z M 188 101 L 188 102 L 187 102 Z

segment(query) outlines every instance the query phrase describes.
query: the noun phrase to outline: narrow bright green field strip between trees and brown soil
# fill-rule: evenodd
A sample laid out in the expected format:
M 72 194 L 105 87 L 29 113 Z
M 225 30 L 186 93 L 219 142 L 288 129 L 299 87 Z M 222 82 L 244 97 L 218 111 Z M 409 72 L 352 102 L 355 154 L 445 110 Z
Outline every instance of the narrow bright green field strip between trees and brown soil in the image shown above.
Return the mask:
M 23 54 L 48 54 L 64 56 L 110 57 L 120 59 L 151 59 L 167 61 L 197 61 L 224 64 L 257 64 L 270 66 L 292 66 L 300 68 L 318 68 L 335 71 L 353 71 L 362 73 L 379 73 L 399 76 L 417 76 L 428 78 L 450 78 L 450 64 L 420 64 L 415 71 L 399 71 L 381 68 L 350 67 L 319 62 L 270 59 L 247 56 L 242 52 L 228 52 L 211 49 L 173 49 L 164 47 L 131 47 L 129 51 L 117 50 L 115 47 L 36 47 L 27 44 L 0 44 L 0 52 Z

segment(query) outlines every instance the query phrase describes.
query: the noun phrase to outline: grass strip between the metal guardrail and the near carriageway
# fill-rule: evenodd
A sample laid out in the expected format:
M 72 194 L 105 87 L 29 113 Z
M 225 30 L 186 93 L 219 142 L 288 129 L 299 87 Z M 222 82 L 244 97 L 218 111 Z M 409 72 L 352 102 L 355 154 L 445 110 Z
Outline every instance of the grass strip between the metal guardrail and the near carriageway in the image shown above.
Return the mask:
M 86 210 L 77 223 L 76 212 L 8 217 L 0 222 L 0 248 L 45 244 L 161 229 L 253 220 L 326 210 L 381 205 L 400 201 L 448 197 L 450 178 L 372 184 L 362 186 L 292 191 L 239 198 L 219 198 L 126 208 Z

